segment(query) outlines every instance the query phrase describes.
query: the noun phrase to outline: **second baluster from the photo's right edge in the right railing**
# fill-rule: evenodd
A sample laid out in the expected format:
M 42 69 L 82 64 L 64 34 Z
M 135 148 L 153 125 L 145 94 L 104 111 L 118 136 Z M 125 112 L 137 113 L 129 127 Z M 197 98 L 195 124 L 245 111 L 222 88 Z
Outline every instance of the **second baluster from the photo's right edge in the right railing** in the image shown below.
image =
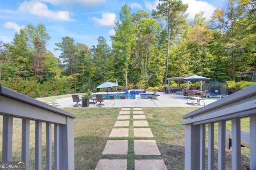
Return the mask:
M 234 118 L 232 123 L 232 170 L 241 170 L 241 120 Z M 255 160 L 254 160 L 255 161 Z

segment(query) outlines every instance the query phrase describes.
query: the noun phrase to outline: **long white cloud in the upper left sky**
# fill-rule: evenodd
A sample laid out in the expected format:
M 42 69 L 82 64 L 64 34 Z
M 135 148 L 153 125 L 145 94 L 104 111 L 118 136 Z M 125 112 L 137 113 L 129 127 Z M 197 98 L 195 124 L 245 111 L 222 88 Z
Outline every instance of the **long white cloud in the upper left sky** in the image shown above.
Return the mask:
M 71 20 L 69 17 L 69 12 L 67 11 L 58 11 L 54 12 L 48 9 L 48 6 L 42 4 L 41 2 L 32 2 L 32 1 L 24 1 L 19 6 L 20 12 L 28 12 L 35 16 L 40 16 L 44 18 L 52 18 L 54 20 L 60 21 L 69 21 Z

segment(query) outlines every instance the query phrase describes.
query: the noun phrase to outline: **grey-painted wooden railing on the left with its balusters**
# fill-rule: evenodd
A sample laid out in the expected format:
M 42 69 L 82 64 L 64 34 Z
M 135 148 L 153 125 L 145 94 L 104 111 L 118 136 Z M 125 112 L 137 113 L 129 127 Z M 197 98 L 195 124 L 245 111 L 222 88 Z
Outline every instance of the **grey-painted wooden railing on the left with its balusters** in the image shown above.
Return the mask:
M 21 161 L 29 170 L 30 120 L 35 121 L 36 170 L 42 169 L 42 123 L 46 123 L 46 170 L 74 170 L 74 118 L 76 115 L 0 86 L 2 120 L 2 162 L 12 161 L 13 118 L 22 119 Z M 52 153 L 54 124 L 54 153 Z M 54 160 L 52 156 L 54 154 Z M 52 162 L 54 165 L 52 165 Z

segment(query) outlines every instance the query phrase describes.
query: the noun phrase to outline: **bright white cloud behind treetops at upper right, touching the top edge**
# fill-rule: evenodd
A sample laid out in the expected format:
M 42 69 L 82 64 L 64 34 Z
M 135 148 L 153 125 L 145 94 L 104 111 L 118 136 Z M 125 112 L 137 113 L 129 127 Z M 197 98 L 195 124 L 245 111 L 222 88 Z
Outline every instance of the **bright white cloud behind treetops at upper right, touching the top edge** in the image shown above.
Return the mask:
M 212 13 L 216 9 L 212 4 L 209 4 L 205 1 L 198 1 L 198 0 L 182 0 L 183 4 L 188 4 L 188 22 L 194 21 L 195 15 L 200 12 L 204 11 L 204 17 L 206 17 L 206 20 L 209 20 L 212 16 Z

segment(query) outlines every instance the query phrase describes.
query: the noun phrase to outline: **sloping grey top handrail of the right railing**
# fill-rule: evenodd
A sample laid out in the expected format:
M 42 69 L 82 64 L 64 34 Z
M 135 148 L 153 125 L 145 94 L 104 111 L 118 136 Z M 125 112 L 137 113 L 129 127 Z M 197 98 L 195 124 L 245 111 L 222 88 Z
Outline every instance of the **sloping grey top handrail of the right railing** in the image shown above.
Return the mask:
M 249 86 L 248 88 L 245 88 L 243 90 L 240 90 L 234 94 L 231 94 L 226 98 L 222 98 L 221 100 L 218 100 L 204 107 L 191 111 L 190 113 L 183 115 L 182 118 L 187 119 L 189 117 L 194 117 L 196 115 L 200 115 L 201 113 L 206 113 L 211 110 L 214 110 L 216 109 L 216 107 L 226 106 L 228 104 L 238 102 L 242 99 L 250 98 L 251 96 L 255 96 L 255 95 L 256 95 L 256 84 Z

